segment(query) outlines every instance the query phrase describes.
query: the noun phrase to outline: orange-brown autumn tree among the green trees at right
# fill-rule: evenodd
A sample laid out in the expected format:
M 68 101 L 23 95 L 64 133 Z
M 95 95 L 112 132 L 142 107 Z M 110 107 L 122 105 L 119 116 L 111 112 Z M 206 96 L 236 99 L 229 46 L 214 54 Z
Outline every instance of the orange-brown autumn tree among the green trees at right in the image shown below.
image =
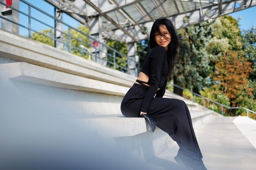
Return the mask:
M 216 71 L 213 80 L 227 97 L 232 106 L 236 106 L 236 99 L 241 95 L 252 97 L 252 89 L 249 88 L 249 73 L 252 72 L 250 63 L 237 52 L 228 51 L 216 62 Z

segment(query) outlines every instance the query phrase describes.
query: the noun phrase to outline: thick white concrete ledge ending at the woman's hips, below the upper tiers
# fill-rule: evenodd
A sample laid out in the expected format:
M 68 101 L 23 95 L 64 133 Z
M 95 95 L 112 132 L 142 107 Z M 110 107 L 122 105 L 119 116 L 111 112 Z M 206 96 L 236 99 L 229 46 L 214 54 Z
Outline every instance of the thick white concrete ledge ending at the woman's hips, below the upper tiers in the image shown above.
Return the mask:
M 125 95 L 129 89 L 128 87 L 62 73 L 25 62 L 0 64 L 0 68 L 2 71 L 15 73 L 16 76 L 9 77 L 11 79 L 58 88 L 121 96 Z

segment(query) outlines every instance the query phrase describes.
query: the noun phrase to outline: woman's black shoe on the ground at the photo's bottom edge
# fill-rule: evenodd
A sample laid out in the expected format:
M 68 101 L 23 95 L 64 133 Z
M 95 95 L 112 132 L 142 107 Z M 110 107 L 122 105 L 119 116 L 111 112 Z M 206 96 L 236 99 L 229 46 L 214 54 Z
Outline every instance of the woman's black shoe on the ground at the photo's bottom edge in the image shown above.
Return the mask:
M 185 168 L 187 168 L 189 170 L 207 170 L 204 166 L 202 159 L 185 160 L 185 159 L 181 159 L 178 156 L 174 157 L 174 159 L 181 166 L 184 166 Z

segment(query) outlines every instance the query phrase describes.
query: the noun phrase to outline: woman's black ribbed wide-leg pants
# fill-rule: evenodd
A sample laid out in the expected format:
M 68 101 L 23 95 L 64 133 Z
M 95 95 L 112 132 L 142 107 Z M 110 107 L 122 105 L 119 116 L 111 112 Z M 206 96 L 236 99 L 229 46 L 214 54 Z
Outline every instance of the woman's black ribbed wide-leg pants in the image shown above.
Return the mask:
M 148 86 L 136 84 L 129 89 L 121 102 L 125 117 L 140 117 L 140 108 Z M 195 137 L 192 120 L 186 103 L 180 99 L 154 97 L 148 113 L 156 126 L 177 142 L 177 153 L 183 159 L 201 159 L 202 153 Z

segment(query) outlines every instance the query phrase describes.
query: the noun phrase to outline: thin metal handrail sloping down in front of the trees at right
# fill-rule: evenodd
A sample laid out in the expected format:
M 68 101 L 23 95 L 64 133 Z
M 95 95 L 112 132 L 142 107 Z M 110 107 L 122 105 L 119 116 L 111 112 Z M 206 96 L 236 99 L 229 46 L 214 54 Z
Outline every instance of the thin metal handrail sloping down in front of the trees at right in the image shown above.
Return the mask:
M 185 89 L 185 88 L 183 88 L 183 87 L 181 87 L 181 86 L 178 86 L 178 85 L 176 85 L 176 84 L 169 84 L 169 88 L 170 88 L 171 86 L 175 86 L 175 87 L 180 88 L 180 89 L 182 89 L 182 90 L 184 90 L 184 91 L 187 91 L 187 92 L 189 92 L 189 93 L 192 93 L 192 94 L 193 94 L 193 98 L 194 98 L 194 102 L 196 102 L 196 98 L 195 98 L 195 97 L 198 96 L 198 97 L 202 97 L 202 98 L 204 98 L 204 99 L 206 99 L 206 100 L 208 100 L 208 101 L 210 101 L 210 102 L 213 102 L 213 103 L 215 103 L 215 104 L 220 105 L 220 106 L 221 106 L 221 113 L 222 113 L 222 115 L 224 115 L 224 114 L 223 114 L 223 107 L 225 107 L 225 108 L 227 108 L 227 109 L 239 109 L 239 108 L 240 108 L 240 109 L 244 109 L 244 110 L 246 110 L 247 117 L 249 117 L 249 112 L 256 114 L 256 112 L 254 112 L 254 111 L 252 111 L 252 110 L 250 110 L 250 109 L 248 109 L 248 108 L 244 108 L 244 107 L 229 107 L 229 106 L 226 106 L 226 105 L 221 104 L 221 103 L 219 103 L 219 102 L 215 102 L 215 101 L 213 101 L 213 100 L 211 100 L 211 99 L 209 99 L 209 98 L 207 98 L 207 97 L 204 97 L 204 96 L 202 96 L 202 95 L 199 95 L 199 94 L 197 94 L 197 93 L 194 93 L 194 92 L 192 92 L 192 91 L 189 91 L 189 90 L 187 90 L 187 89 Z

